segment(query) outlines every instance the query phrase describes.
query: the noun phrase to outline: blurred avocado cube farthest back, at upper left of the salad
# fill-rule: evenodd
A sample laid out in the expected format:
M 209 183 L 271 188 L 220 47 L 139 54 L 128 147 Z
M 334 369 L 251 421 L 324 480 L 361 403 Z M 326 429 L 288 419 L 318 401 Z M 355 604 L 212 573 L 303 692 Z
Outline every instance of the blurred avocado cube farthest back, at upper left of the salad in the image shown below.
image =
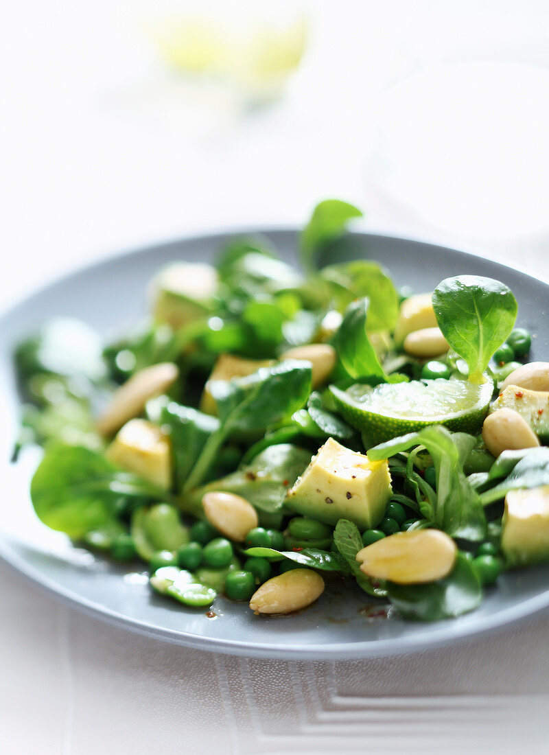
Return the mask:
M 153 279 L 153 316 L 156 322 L 180 328 L 211 311 L 217 291 L 217 271 L 202 262 L 174 262 Z

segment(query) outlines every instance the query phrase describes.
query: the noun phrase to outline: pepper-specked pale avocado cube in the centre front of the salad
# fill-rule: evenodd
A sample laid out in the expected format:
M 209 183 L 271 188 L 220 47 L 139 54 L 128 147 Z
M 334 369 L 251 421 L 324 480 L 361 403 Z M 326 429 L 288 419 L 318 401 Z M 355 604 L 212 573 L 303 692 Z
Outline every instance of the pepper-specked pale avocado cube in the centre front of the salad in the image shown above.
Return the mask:
M 329 438 L 286 495 L 291 511 L 325 524 L 350 519 L 359 529 L 381 522 L 391 495 L 387 459 L 370 461 Z

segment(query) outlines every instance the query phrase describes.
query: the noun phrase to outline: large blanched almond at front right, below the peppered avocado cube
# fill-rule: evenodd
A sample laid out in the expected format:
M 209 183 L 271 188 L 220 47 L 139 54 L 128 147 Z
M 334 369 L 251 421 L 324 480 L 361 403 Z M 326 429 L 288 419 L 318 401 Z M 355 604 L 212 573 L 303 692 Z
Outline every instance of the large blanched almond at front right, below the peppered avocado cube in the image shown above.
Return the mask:
M 449 535 L 437 529 L 396 532 L 356 553 L 360 571 L 396 584 L 424 584 L 452 571 L 458 549 Z

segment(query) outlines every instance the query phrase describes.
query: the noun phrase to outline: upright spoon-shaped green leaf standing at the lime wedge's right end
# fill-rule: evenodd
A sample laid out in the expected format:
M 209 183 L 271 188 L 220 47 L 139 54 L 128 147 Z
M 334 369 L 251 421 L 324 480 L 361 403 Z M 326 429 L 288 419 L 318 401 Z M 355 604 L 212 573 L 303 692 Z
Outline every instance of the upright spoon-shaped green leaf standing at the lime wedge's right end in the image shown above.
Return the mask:
M 446 278 L 433 291 L 433 308 L 446 341 L 467 362 L 470 380 L 482 382 L 517 318 L 512 291 L 492 278 Z

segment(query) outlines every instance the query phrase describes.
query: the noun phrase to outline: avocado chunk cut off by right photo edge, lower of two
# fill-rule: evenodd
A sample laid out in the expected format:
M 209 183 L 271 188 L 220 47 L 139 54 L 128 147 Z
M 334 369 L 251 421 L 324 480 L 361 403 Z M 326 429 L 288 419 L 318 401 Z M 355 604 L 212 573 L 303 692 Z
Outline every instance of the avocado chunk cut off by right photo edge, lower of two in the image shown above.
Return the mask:
M 509 565 L 549 560 L 549 485 L 505 496 L 501 551 Z

